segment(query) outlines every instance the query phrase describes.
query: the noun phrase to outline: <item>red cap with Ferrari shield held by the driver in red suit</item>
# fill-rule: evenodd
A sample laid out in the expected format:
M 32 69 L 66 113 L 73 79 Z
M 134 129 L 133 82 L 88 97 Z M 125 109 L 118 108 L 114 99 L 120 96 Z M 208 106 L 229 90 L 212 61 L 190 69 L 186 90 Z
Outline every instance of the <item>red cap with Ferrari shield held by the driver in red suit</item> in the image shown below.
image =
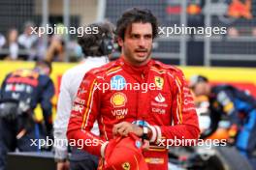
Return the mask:
M 106 148 L 106 170 L 148 170 L 142 148 L 142 139 L 133 133 L 112 139 Z

